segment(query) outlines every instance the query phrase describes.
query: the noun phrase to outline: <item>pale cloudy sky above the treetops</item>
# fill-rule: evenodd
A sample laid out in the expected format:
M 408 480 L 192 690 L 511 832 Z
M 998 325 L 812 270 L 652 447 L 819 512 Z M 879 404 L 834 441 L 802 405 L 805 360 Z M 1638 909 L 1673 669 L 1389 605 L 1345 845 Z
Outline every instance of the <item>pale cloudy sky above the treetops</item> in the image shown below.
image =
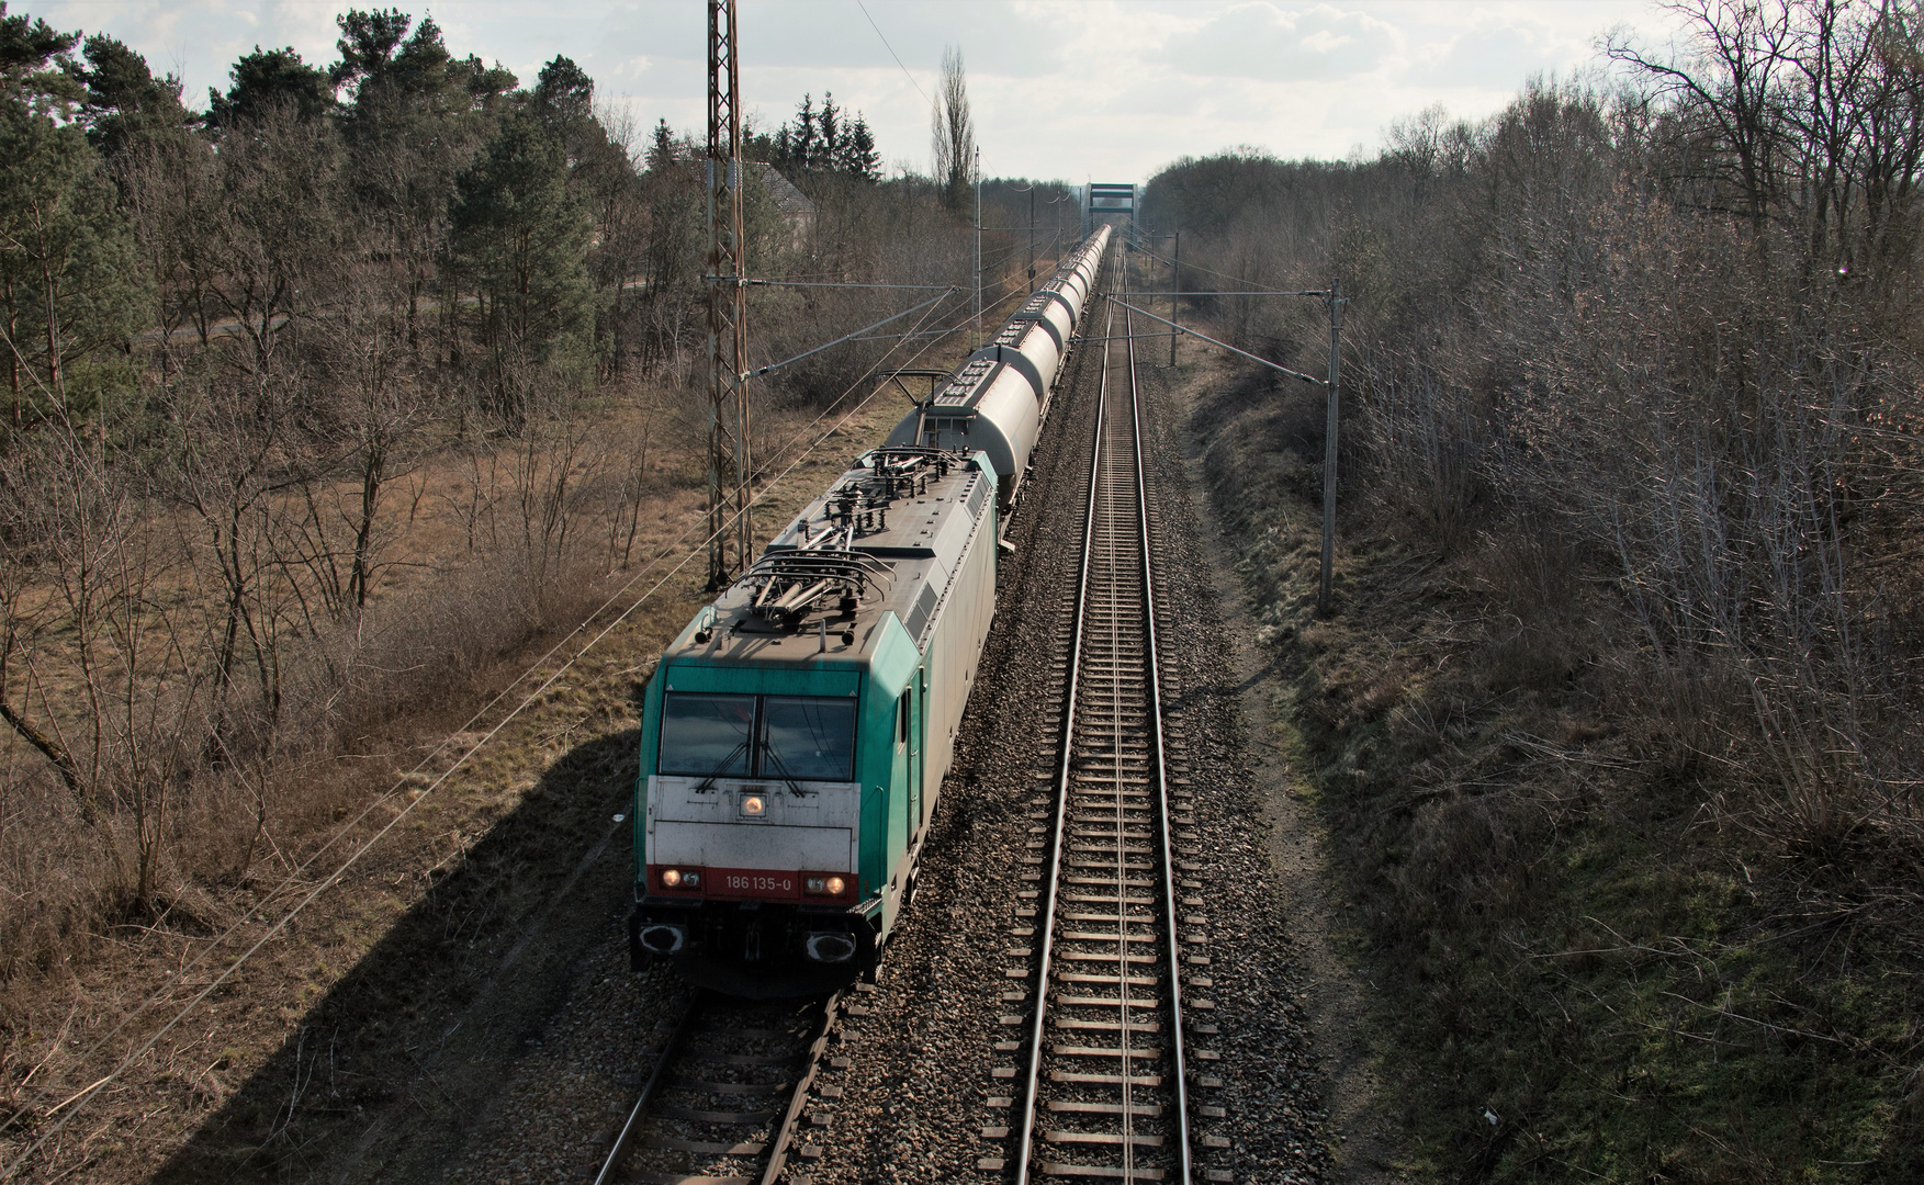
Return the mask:
M 531 85 L 556 54 L 643 129 L 706 127 L 700 0 L 366 0 L 433 15 L 456 56 Z M 864 8 L 866 6 L 866 8 Z M 256 44 L 335 60 L 335 0 L 15 0 L 175 73 L 190 106 Z M 929 169 L 929 96 L 962 50 L 983 173 L 1147 181 L 1181 156 L 1374 152 L 1399 117 L 1501 110 L 1532 75 L 1599 65 L 1612 31 L 1666 46 L 1649 0 L 743 0 L 741 88 L 764 127 L 804 92 L 858 110 L 889 171 Z

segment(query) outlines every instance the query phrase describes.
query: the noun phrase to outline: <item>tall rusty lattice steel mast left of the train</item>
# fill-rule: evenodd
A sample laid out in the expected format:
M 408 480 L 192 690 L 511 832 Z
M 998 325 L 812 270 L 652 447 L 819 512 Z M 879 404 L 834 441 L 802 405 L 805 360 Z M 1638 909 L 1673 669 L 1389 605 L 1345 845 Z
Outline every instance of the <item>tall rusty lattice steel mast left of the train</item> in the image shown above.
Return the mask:
M 708 587 L 754 560 L 737 0 L 708 0 Z

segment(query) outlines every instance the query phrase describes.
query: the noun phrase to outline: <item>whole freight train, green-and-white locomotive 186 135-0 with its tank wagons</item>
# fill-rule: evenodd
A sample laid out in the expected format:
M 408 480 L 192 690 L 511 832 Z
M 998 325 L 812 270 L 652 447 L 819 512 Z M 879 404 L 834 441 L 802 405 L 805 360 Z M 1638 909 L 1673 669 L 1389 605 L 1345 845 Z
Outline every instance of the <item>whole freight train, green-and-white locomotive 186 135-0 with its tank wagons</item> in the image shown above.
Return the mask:
M 735 995 L 872 971 L 995 618 L 1002 514 L 1108 227 L 662 652 L 635 785 L 637 968 Z

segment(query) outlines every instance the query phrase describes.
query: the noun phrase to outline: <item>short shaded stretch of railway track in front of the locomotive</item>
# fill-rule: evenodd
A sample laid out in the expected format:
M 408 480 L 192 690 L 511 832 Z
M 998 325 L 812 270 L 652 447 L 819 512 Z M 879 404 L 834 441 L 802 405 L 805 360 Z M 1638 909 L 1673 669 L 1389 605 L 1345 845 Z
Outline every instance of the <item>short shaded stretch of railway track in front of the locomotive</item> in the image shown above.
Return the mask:
M 733 1000 L 696 993 L 675 1021 L 595 1185 L 802 1185 L 808 1091 L 847 993 Z M 827 1087 L 837 1089 L 839 1087 Z

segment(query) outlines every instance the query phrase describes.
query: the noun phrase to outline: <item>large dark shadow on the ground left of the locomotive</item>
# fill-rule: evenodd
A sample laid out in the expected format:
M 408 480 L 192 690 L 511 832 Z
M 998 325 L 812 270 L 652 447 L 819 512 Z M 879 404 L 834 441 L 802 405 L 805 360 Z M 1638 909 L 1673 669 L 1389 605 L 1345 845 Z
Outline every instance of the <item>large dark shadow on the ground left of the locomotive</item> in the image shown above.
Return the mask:
M 612 816 L 631 810 L 637 743 L 629 729 L 554 762 L 156 1185 L 439 1179 L 583 960 L 620 945 L 625 966 L 631 831 Z

